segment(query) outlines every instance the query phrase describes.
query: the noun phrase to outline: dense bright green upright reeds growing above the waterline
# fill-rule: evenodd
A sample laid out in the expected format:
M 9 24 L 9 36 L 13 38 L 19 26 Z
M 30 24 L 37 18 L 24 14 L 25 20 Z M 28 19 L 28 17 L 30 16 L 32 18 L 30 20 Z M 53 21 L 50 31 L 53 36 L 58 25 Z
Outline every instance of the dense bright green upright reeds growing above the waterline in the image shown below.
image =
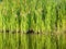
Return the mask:
M 0 30 L 64 32 L 66 0 L 2 0 Z

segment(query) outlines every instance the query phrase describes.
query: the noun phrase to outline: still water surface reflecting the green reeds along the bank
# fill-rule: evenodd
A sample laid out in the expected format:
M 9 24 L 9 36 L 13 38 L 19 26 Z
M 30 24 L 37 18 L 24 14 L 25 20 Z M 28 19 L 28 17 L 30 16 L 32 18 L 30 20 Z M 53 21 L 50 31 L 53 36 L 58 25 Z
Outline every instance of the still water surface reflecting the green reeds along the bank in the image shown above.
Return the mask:
M 65 35 L 0 33 L 0 49 L 66 49 Z

